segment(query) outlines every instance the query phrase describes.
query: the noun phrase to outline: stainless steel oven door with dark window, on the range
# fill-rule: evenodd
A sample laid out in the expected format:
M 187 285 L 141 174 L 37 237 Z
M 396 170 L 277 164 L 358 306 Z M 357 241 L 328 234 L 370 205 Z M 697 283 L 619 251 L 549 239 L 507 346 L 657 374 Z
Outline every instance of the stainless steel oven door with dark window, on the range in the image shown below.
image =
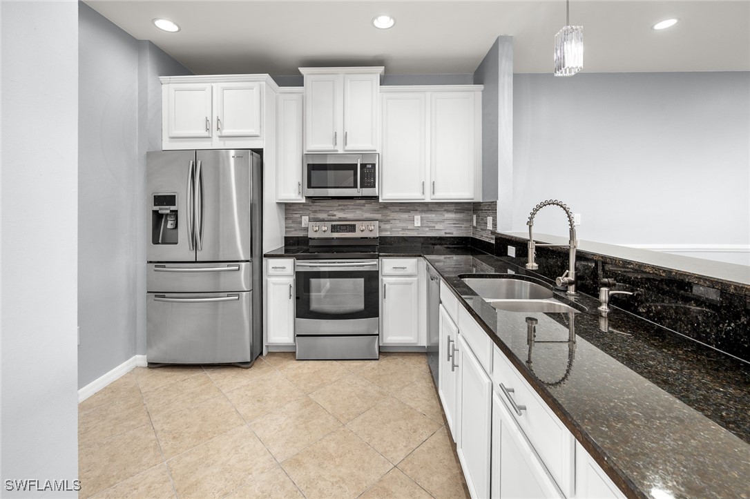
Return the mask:
M 378 334 L 377 260 L 302 260 L 295 269 L 297 336 Z

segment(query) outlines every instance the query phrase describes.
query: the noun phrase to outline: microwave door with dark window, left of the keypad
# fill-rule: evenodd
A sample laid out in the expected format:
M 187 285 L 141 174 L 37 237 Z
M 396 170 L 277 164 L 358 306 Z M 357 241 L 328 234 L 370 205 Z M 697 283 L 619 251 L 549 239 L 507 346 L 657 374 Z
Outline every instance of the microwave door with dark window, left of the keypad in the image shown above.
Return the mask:
M 359 197 L 359 154 L 305 154 L 302 194 L 314 197 Z

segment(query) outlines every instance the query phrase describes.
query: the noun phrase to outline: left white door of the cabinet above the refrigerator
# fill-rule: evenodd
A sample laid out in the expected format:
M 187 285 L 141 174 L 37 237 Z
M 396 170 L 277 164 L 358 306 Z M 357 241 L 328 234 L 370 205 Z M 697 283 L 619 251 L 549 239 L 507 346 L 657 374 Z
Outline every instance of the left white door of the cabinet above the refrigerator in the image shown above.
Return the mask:
M 170 138 L 211 137 L 211 84 L 169 85 L 167 135 Z

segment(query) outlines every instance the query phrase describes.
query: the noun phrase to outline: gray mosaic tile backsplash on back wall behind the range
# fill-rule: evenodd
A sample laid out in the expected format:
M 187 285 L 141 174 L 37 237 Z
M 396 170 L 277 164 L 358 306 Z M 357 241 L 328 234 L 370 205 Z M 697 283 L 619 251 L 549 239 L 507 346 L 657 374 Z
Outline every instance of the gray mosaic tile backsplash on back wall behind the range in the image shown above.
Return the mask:
M 377 220 L 381 236 L 471 236 L 472 203 L 381 203 L 375 199 L 311 199 L 287 204 L 288 236 L 306 236 L 302 215 L 310 220 Z M 414 226 L 414 216 L 422 226 Z

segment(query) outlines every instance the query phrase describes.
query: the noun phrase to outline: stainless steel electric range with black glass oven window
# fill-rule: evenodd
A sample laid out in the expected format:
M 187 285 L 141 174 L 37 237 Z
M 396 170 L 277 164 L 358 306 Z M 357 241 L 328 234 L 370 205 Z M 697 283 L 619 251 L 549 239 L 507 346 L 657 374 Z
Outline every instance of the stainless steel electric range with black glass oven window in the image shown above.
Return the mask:
M 308 238 L 295 264 L 297 359 L 377 359 L 377 221 L 311 221 Z

